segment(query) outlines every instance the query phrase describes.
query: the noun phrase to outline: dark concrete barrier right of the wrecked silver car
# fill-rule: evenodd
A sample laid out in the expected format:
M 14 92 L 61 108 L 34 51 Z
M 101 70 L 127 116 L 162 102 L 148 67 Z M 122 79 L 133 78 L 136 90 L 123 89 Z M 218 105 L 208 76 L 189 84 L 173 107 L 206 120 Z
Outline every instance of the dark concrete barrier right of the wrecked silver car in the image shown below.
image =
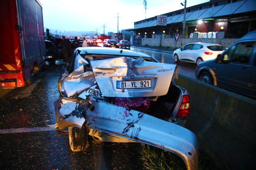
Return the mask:
M 255 169 L 256 100 L 180 75 L 190 94 L 186 128 L 220 169 Z

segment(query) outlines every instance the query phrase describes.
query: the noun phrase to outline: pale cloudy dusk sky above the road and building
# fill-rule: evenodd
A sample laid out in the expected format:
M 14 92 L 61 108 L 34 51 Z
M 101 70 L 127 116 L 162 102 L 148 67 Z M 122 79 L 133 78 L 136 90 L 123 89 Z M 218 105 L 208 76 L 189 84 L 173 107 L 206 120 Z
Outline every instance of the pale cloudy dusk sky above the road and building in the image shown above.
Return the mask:
M 56 32 L 117 32 L 145 19 L 143 0 L 39 0 L 44 28 Z M 187 0 L 187 7 L 209 0 Z M 183 0 L 147 0 L 146 18 L 183 9 Z M 119 18 L 117 17 L 119 16 Z

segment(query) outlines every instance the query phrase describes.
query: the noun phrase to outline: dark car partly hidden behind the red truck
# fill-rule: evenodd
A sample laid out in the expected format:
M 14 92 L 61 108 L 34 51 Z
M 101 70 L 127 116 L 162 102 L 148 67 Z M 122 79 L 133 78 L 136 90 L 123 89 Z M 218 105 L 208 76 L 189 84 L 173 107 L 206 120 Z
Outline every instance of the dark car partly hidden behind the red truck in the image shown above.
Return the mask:
M 45 40 L 46 56 L 45 61 L 54 62 L 55 59 L 59 59 L 61 51 L 54 45 L 53 42 Z

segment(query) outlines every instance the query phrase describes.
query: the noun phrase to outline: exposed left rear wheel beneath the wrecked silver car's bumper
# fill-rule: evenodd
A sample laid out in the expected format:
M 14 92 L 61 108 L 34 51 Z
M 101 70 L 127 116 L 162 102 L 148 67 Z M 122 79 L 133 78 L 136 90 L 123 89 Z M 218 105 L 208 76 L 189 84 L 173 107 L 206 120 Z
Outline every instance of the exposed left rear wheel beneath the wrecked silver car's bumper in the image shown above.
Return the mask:
M 73 152 L 83 151 L 87 147 L 88 132 L 84 127 L 68 127 L 68 139 Z

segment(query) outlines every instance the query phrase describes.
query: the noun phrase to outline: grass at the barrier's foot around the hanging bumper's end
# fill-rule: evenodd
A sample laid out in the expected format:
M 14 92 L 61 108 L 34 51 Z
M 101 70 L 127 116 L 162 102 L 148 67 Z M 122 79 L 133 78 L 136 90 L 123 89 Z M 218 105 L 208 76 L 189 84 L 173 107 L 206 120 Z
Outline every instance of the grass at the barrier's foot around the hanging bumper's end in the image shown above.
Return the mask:
M 186 164 L 178 155 L 167 150 L 146 145 L 140 148 L 140 161 L 146 170 L 186 170 Z M 209 156 L 199 153 L 198 170 L 218 170 Z

